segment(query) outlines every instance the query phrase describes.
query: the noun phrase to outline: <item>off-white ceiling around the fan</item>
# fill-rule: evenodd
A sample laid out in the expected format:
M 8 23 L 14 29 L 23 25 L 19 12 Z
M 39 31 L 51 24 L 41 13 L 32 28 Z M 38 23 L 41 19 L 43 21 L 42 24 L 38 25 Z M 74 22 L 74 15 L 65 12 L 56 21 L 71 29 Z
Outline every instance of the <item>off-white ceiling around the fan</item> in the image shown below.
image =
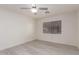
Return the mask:
M 40 11 L 38 10 L 37 15 L 34 15 L 29 9 L 27 10 L 22 10 L 20 8 L 26 7 L 26 8 L 31 8 L 31 4 L 4 4 L 0 5 L 0 7 L 8 8 L 10 10 L 13 10 L 15 12 L 19 12 L 21 14 L 24 14 L 28 17 L 31 18 L 44 18 L 44 17 L 49 17 L 61 13 L 67 13 L 67 12 L 72 12 L 76 11 L 79 9 L 79 4 L 37 4 L 37 8 L 39 7 L 47 7 L 48 10 L 50 11 L 49 14 L 45 14 L 45 11 Z

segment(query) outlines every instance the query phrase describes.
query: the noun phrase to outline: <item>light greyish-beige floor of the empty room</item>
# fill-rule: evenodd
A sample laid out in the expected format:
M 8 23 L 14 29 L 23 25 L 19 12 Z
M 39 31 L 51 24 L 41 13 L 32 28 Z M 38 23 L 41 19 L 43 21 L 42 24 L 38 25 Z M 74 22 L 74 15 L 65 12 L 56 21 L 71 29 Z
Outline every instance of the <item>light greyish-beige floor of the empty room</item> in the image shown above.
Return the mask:
M 34 40 L 3 51 L 0 55 L 78 55 L 74 46 Z

